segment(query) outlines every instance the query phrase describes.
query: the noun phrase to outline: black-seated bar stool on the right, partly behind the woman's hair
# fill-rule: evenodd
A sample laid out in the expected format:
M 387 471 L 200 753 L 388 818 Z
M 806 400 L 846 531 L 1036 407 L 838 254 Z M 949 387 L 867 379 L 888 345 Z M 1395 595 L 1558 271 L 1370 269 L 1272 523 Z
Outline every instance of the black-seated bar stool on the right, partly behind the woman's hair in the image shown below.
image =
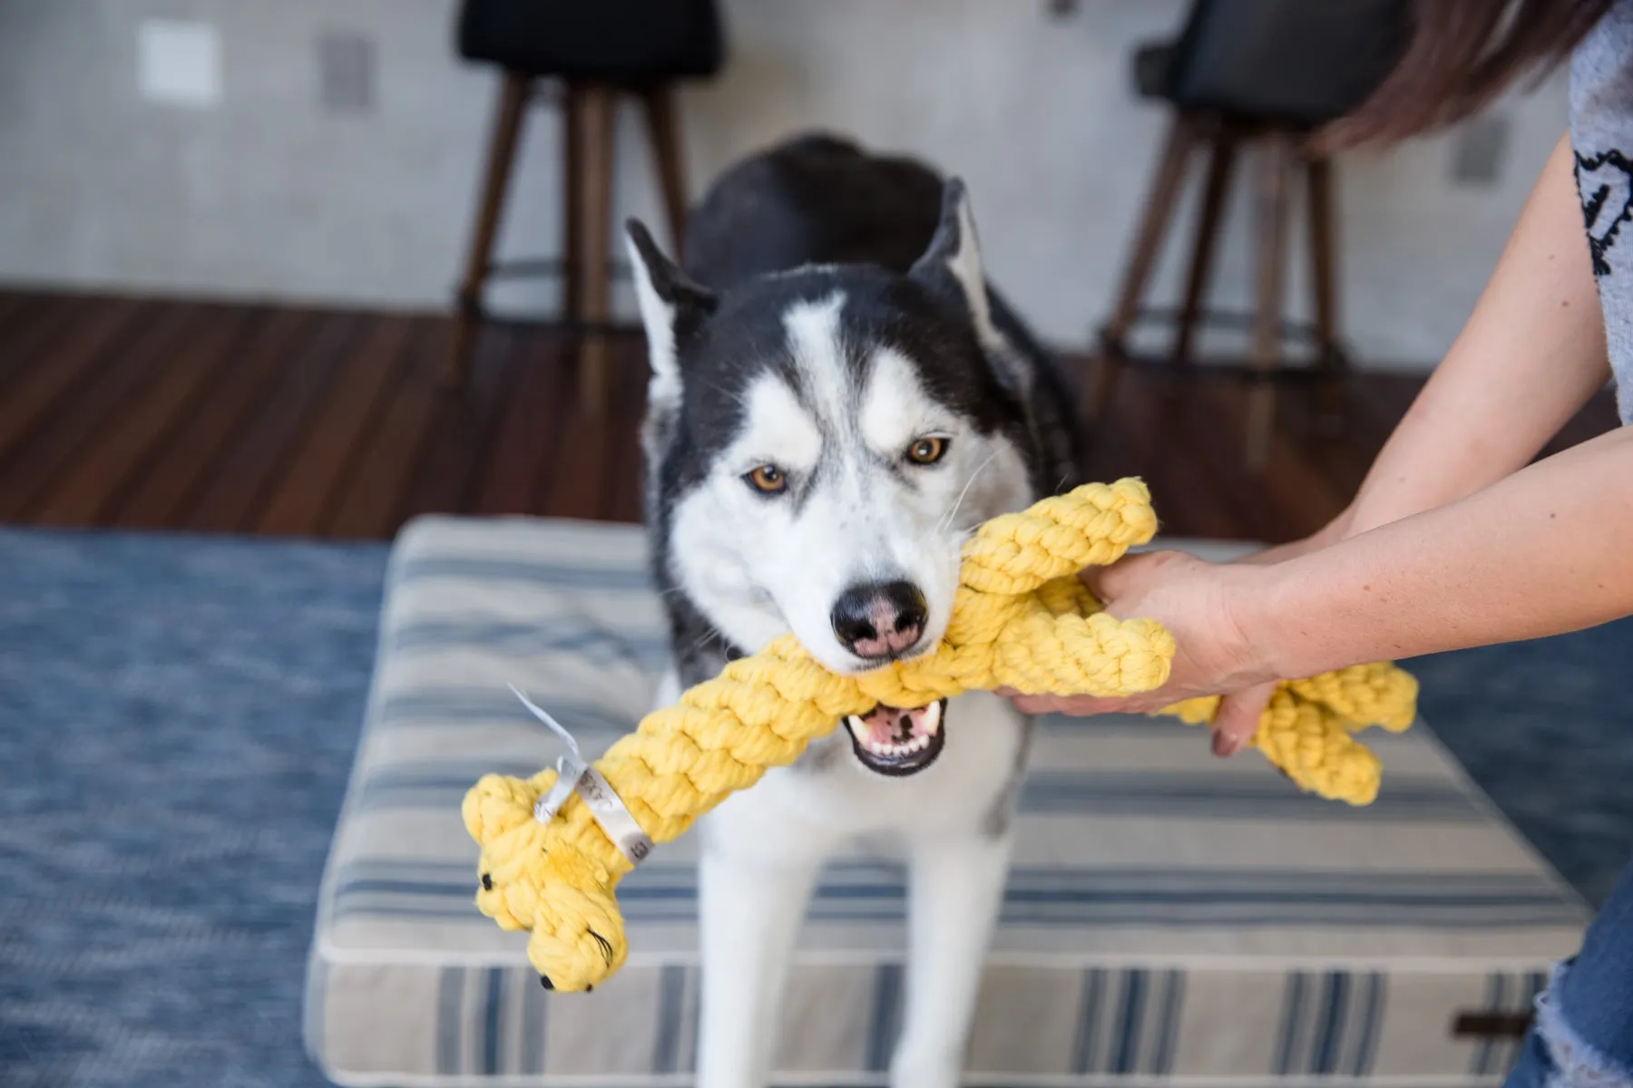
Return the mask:
M 1349 367 L 1337 318 L 1337 235 L 1329 158 L 1308 147 L 1308 135 L 1359 106 L 1388 75 L 1411 31 L 1409 0 L 1195 0 L 1179 38 L 1145 44 L 1133 55 L 1141 98 L 1163 101 L 1172 117 L 1151 178 L 1110 318 L 1099 328 L 1092 414 L 1115 395 L 1120 370 L 1133 360 L 1128 334 L 1137 323 L 1171 323 L 1174 377 L 1195 374 L 1194 344 L 1202 325 L 1251 331 L 1246 367 L 1246 462 L 1269 458 L 1275 382 L 1310 377 L 1311 367 L 1285 367 L 1284 341 L 1313 344 L 1313 374 L 1329 418 L 1341 411 Z M 1254 197 L 1254 300 L 1248 318 L 1204 307 L 1230 178 L 1241 152 L 1257 152 Z M 1179 191 L 1197 152 L 1207 158 L 1202 204 L 1184 297 L 1177 310 L 1143 305 L 1145 290 L 1174 217 Z M 1313 266 L 1313 325 L 1284 320 L 1288 214 L 1297 175 L 1306 188 Z M 1210 372 L 1215 367 L 1210 367 Z

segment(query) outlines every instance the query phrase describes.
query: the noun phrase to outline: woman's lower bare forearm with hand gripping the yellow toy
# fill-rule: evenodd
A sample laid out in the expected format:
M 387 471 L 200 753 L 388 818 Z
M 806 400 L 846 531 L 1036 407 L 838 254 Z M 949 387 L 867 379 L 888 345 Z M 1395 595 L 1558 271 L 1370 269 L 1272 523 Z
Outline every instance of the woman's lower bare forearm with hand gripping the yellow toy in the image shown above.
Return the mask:
M 1174 635 L 1168 683 L 1130 698 L 1035 700 L 1037 710 L 1153 711 L 1280 677 L 1633 615 L 1630 540 L 1633 427 L 1623 427 L 1466 499 L 1284 563 L 1132 556 L 1084 577 L 1112 615 L 1150 617 Z

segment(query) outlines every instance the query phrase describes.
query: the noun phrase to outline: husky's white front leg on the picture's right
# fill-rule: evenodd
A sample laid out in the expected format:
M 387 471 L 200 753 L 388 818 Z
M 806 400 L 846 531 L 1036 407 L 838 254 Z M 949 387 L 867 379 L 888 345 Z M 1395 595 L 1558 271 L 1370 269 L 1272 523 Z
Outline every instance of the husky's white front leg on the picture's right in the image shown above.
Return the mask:
M 913 853 L 906 1023 L 892 1088 L 954 1088 L 1003 904 L 1009 835 L 923 842 Z

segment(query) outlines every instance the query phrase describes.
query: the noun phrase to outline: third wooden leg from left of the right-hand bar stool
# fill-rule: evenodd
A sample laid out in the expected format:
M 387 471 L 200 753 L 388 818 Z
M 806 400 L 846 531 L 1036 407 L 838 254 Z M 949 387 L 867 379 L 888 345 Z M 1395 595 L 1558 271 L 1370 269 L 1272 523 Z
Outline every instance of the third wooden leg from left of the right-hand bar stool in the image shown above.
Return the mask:
M 1292 137 L 1272 132 L 1259 163 L 1257 246 L 1254 272 L 1253 367 L 1261 380 L 1248 391 L 1248 468 L 1259 471 L 1270 460 L 1275 429 L 1275 385 L 1280 362 L 1282 285 L 1287 276 L 1287 175 L 1293 165 Z

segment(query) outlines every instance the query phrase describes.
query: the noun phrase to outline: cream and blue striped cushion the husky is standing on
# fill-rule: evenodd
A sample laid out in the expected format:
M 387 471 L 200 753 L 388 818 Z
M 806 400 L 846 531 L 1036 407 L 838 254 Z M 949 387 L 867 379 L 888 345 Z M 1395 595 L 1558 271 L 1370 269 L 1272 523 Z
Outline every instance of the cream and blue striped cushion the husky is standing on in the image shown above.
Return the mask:
M 1202 548 L 1205 550 L 1205 548 Z M 426 519 L 394 553 L 361 750 L 325 874 L 307 1039 L 346 1085 L 684 1083 L 697 1021 L 694 843 L 619 889 L 630 961 L 552 997 L 472 905 L 459 819 L 485 772 L 591 747 L 650 708 L 665 628 L 635 529 Z M 954 741 L 955 742 L 955 741 Z M 1377 736 L 1377 804 L 1298 796 L 1186 726 L 1045 721 L 988 961 L 972 1080 L 1496 1081 L 1586 910 L 1432 736 Z M 901 1019 L 903 873 L 836 860 L 810 905 L 777 1054 L 785 1083 L 882 1083 Z

